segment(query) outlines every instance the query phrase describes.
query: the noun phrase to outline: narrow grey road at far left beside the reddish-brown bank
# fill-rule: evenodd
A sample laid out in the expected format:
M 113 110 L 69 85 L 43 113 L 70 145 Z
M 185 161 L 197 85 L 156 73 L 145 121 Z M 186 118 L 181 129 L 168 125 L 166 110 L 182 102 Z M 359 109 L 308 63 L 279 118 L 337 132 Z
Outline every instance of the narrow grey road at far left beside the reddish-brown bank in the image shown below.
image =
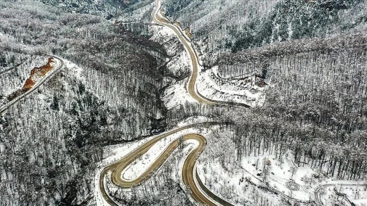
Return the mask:
M 19 97 L 9 101 L 4 107 L 0 108 L 0 115 L 2 115 L 5 111 L 7 111 L 12 105 L 14 105 L 16 102 L 24 98 L 25 96 L 33 93 L 37 90 L 40 86 L 42 86 L 44 83 L 46 83 L 51 77 L 54 76 L 54 74 L 59 71 L 64 66 L 64 61 L 58 57 L 52 56 L 56 60 L 56 65 L 53 70 L 48 72 L 38 83 L 36 83 L 31 89 L 29 89 L 24 94 L 20 95 Z

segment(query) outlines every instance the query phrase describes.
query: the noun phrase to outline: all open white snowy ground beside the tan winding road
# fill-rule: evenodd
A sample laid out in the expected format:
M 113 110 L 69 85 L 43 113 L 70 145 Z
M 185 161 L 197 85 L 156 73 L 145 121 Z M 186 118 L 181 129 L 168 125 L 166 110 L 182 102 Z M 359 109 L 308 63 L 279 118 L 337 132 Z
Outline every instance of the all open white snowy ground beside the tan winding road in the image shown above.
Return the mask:
M 152 28 L 154 35 L 151 37 L 151 40 L 161 42 L 166 47 L 168 55 L 172 56 L 172 59 L 166 65 L 167 69 L 174 76 L 188 71 L 191 73 L 191 59 L 188 56 L 187 50 L 177 45 L 179 42 L 174 32 L 169 28 L 160 26 L 153 26 Z M 206 54 L 202 55 L 205 56 Z M 217 67 L 213 67 L 204 72 L 201 72 L 202 69 L 199 66 L 197 79 L 197 89 L 202 95 L 214 100 L 234 101 L 252 107 L 263 104 L 266 84 L 259 84 L 260 80 L 258 77 L 249 76 L 243 79 L 222 79 L 217 75 Z M 167 77 L 165 79 L 168 87 L 164 91 L 163 100 L 167 109 L 174 108 L 186 101 L 195 102 L 187 92 L 188 80 L 189 77 L 180 80 L 175 80 L 173 77 Z M 209 131 L 205 129 L 204 135 L 208 134 Z M 139 177 L 159 157 L 170 142 L 180 135 L 190 132 L 199 132 L 199 130 L 194 128 L 187 129 L 157 142 L 142 157 L 134 161 L 123 171 L 123 178 L 134 179 Z M 203 133 L 202 130 L 200 132 Z M 108 148 L 108 155 L 110 157 L 102 161 L 100 166 L 102 167 L 103 165 L 119 160 L 127 155 L 128 152 L 151 138 L 154 137 L 134 143 L 111 146 Z M 195 147 L 195 142 L 191 142 L 191 144 L 192 147 L 186 147 L 184 149 L 183 153 L 186 155 L 190 151 L 188 148 Z M 214 194 L 238 205 L 257 205 L 259 201 L 270 201 L 270 205 L 282 205 L 287 197 L 309 201 L 315 198 L 314 190 L 317 186 L 331 181 L 331 179 L 315 180 L 313 174 L 316 174 L 317 171 L 308 166 L 296 167 L 292 162 L 293 153 L 291 151 L 286 152 L 282 156 L 282 161 L 274 153 L 256 153 L 256 156 L 252 153 L 250 156 L 244 157 L 241 162 L 236 163 L 239 160 L 236 158 L 236 148 L 230 138 L 230 134 L 224 138 L 210 137 L 208 146 L 202 156 L 199 158 L 197 169 L 203 183 Z M 238 166 L 236 167 L 236 165 Z M 175 172 L 180 169 L 178 166 L 173 167 L 175 167 Z M 269 169 L 266 175 L 263 172 L 265 167 Z M 96 189 L 97 193 L 99 190 L 98 177 L 99 175 L 96 176 L 95 183 L 96 188 L 98 188 Z M 340 184 L 341 182 L 334 181 L 336 184 Z M 268 186 L 272 190 L 266 189 Z M 113 194 L 122 190 L 111 183 L 108 183 L 108 187 L 110 193 Z M 276 192 L 273 192 L 274 190 L 277 190 L 281 194 L 276 194 Z M 350 191 L 345 190 L 348 197 L 351 196 L 352 189 Z M 358 204 L 363 203 L 366 198 L 365 192 L 361 192 L 360 190 L 358 192 L 358 198 L 355 198 Z M 353 194 L 356 195 L 356 192 L 354 191 Z M 103 202 L 98 202 L 98 204 L 103 204 Z

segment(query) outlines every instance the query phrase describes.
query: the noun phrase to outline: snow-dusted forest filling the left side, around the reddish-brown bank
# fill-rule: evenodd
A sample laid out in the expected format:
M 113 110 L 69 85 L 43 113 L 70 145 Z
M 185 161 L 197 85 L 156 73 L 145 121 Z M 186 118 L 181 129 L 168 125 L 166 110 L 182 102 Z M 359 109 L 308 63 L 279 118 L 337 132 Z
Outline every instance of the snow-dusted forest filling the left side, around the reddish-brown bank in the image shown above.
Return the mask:
M 46 63 L 44 54 L 80 67 L 62 69 L 0 118 L 0 204 L 93 203 L 103 146 L 165 129 L 160 89 L 167 54 L 103 16 L 38 2 L 0 8 L 3 96 Z

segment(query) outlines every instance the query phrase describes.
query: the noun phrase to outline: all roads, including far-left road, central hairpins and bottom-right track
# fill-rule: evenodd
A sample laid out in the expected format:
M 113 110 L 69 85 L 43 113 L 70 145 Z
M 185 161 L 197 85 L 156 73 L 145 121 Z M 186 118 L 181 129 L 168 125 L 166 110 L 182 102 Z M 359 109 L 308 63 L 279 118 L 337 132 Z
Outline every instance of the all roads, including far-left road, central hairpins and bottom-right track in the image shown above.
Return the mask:
M 190 42 L 190 40 L 185 37 L 185 34 L 176 26 L 166 23 L 165 21 L 160 21 L 159 19 L 162 19 L 162 17 L 159 17 L 159 11 L 161 8 L 160 1 L 157 0 L 156 6 L 152 12 L 152 19 L 156 24 L 168 27 L 174 31 L 174 33 L 179 38 L 180 42 L 183 44 L 185 49 L 190 55 L 191 63 L 192 63 L 192 75 L 190 76 L 187 90 L 189 94 L 196 99 L 197 101 L 201 102 L 202 104 L 206 105 L 230 105 L 230 106 L 241 106 L 245 108 L 251 108 L 249 105 L 242 104 L 242 103 L 236 103 L 236 102 L 225 102 L 225 101 L 219 101 L 219 100 L 213 100 L 205 97 L 204 95 L 200 94 L 197 90 L 197 76 L 198 76 L 198 56 L 195 52 L 195 49 L 193 47 L 193 44 Z M 52 55 L 51 55 L 52 56 Z M 24 94 L 21 94 L 17 98 L 13 99 L 12 101 L 8 102 L 5 106 L 0 108 L 0 115 L 5 113 L 11 106 L 16 104 L 19 100 L 23 99 L 25 96 L 32 94 L 34 91 L 36 91 L 40 86 L 42 86 L 44 83 L 46 83 L 48 80 L 51 79 L 57 73 L 60 69 L 64 66 L 64 61 L 61 58 L 58 58 L 56 56 L 52 56 L 56 60 L 56 65 L 54 66 L 54 69 L 47 73 L 39 82 L 37 82 L 30 90 L 25 92 Z M 9 71 L 9 70 L 7 70 Z M 7 72 L 4 71 L 4 72 Z M 2 73 L 4 73 L 2 72 Z M 183 183 L 190 187 L 191 196 L 194 198 L 196 202 L 199 204 L 204 205 L 228 205 L 232 206 L 233 204 L 230 202 L 227 202 L 226 200 L 220 198 L 219 196 L 216 196 L 214 193 L 212 193 L 210 190 L 208 190 L 205 185 L 200 180 L 199 175 L 196 172 L 196 164 L 197 159 L 199 158 L 201 152 L 204 150 L 205 145 L 207 144 L 206 138 L 198 133 L 189 133 L 182 136 L 182 138 L 177 138 L 173 140 L 165 149 L 164 151 L 159 155 L 159 157 L 154 161 L 153 164 L 149 166 L 149 168 L 139 177 L 135 179 L 124 179 L 122 176 L 122 173 L 124 169 L 126 169 L 131 163 L 133 163 L 135 160 L 140 158 L 144 153 L 146 153 L 153 145 L 155 145 L 159 140 L 172 135 L 174 133 L 177 133 L 179 131 L 189 129 L 196 126 L 203 126 L 208 127 L 211 125 L 216 125 L 217 123 L 214 122 L 206 122 L 206 123 L 196 123 L 196 124 L 190 124 L 182 127 L 178 127 L 174 130 L 165 132 L 163 134 L 157 135 L 156 137 L 152 138 L 151 140 L 147 141 L 146 143 L 142 144 L 141 146 L 137 147 L 128 155 L 124 156 L 122 159 L 106 166 L 102 172 L 99 175 L 99 187 L 102 194 L 102 197 L 104 200 L 110 204 L 110 205 L 118 205 L 107 193 L 106 186 L 105 186 L 105 177 L 107 173 L 110 172 L 111 174 L 111 182 L 119 187 L 122 188 L 131 188 L 134 186 L 139 186 L 142 183 L 144 183 L 146 180 L 150 178 L 150 176 L 156 172 L 162 164 L 164 164 L 165 160 L 172 154 L 172 152 L 181 144 L 183 141 L 187 140 L 195 140 L 198 142 L 198 146 L 191 150 L 189 155 L 186 157 L 185 162 L 182 166 L 182 179 Z M 314 190 L 314 196 L 316 199 L 316 203 L 318 205 L 323 205 L 323 202 L 321 200 L 321 193 L 323 189 L 326 187 L 331 186 L 365 186 L 365 184 L 325 184 L 325 185 L 319 185 Z

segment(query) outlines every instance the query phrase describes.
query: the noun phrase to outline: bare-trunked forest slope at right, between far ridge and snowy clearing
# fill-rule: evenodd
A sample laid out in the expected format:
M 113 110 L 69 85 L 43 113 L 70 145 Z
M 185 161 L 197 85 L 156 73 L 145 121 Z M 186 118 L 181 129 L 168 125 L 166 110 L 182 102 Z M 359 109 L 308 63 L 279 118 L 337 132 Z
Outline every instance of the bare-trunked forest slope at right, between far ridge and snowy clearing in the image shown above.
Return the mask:
M 235 128 L 239 157 L 274 148 L 281 157 L 291 148 L 299 166 L 339 179 L 365 178 L 365 42 L 364 34 L 342 35 L 223 55 L 220 75 L 255 71 L 271 85 L 264 107 L 254 110 L 258 118 L 248 119 L 254 126 L 241 122 Z

